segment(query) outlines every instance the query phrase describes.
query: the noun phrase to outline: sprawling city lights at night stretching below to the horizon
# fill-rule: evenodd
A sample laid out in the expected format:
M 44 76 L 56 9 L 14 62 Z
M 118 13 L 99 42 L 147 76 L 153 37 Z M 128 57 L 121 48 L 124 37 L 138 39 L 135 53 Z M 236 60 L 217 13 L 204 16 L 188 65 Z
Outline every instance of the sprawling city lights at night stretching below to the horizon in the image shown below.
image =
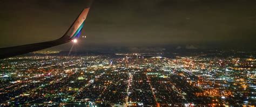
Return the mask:
M 43 55 L 0 60 L 1 105 L 256 104 L 255 52 L 240 52 L 246 54 L 244 58 L 205 53 L 62 56 L 45 51 L 35 54 L 38 53 Z

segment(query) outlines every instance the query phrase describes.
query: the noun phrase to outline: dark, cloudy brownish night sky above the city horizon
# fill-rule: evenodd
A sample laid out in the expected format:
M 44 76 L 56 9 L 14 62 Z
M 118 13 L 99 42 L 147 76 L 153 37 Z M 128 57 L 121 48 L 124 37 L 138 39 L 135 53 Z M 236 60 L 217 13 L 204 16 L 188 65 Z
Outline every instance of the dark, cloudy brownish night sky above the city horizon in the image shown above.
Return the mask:
M 0 47 L 62 37 L 86 5 L 0 0 Z M 95 0 L 79 47 L 256 48 L 255 20 L 255 0 Z

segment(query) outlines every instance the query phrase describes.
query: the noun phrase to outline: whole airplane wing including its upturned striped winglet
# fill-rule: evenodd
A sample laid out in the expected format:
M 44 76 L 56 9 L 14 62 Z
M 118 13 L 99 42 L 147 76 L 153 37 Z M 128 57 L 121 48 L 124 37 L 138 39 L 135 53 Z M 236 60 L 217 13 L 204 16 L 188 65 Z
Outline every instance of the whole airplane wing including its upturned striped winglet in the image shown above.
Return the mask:
M 73 24 L 70 26 L 69 30 L 66 31 L 61 38 L 52 41 L 39 42 L 36 44 L 0 48 L 0 59 L 39 51 L 41 49 L 65 44 L 78 38 L 81 34 L 89 9 L 90 8 L 86 8 L 80 13 L 75 22 L 73 22 Z

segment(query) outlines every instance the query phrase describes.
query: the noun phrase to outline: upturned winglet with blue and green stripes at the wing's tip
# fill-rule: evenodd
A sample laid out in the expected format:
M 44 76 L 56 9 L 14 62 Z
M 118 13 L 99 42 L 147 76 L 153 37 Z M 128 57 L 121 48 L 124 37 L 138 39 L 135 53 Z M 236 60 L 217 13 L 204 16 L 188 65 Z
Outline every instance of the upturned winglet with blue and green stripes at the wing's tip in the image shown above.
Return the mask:
M 81 31 L 82 31 L 82 28 L 84 26 L 85 19 L 87 17 L 89 9 L 90 8 L 86 8 L 80 13 L 80 15 L 77 17 L 75 22 L 73 22 L 73 24 L 70 26 L 69 30 L 63 35 L 62 38 L 72 40 L 72 39 L 79 37 L 79 35 L 81 34 Z M 60 39 L 62 39 L 62 38 L 60 38 Z

